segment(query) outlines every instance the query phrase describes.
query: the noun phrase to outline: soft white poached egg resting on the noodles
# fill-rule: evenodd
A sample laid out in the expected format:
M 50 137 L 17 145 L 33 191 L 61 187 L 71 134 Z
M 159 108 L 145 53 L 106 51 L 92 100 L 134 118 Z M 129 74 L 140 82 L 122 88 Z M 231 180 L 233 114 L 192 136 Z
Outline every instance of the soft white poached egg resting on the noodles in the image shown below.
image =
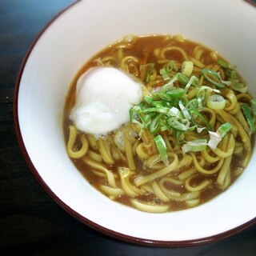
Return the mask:
M 70 119 L 78 130 L 105 135 L 130 120 L 130 107 L 142 101 L 142 85 L 114 67 L 95 67 L 78 78 Z

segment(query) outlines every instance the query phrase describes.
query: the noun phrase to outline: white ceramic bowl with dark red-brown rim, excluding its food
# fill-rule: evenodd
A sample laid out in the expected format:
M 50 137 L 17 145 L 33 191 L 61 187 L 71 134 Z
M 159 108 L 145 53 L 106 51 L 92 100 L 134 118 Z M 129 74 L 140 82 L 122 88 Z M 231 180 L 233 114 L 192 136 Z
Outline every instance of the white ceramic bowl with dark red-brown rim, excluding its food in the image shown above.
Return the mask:
M 256 96 L 256 8 L 242 0 L 78 1 L 31 46 L 15 91 L 18 140 L 48 193 L 89 226 L 130 242 L 184 246 L 224 238 L 255 223 L 256 154 L 238 181 L 202 206 L 147 214 L 111 202 L 67 157 L 62 110 L 70 82 L 93 54 L 126 34 L 182 34 L 237 64 Z

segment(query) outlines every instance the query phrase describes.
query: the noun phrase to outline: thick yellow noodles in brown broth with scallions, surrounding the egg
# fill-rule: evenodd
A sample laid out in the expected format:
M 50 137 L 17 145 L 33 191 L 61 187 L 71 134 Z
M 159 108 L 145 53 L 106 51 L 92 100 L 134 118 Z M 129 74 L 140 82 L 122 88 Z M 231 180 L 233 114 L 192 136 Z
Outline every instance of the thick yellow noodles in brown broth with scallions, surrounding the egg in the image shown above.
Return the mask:
M 142 90 L 129 105 L 127 122 L 106 133 L 78 130 L 70 118 L 78 78 L 92 67 L 122 70 L 128 88 L 135 83 Z M 102 85 L 108 86 L 104 78 Z M 115 97 L 109 95 L 104 111 Z M 88 97 L 94 111 L 97 94 Z M 126 36 L 74 78 L 64 108 L 67 153 L 86 180 L 116 202 L 152 213 L 184 210 L 222 193 L 246 168 L 255 106 L 235 67 L 216 51 L 179 35 Z

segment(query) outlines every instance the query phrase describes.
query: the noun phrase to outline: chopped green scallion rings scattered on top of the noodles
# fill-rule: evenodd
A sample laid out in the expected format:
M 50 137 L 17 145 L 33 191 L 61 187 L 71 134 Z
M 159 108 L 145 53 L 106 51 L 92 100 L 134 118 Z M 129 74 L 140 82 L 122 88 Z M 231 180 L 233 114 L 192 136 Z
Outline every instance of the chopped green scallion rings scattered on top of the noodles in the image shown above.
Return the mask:
M 226 99 L 220 95 L 221 90 L 226 86 L 241 93 L 247 90 L 247 86 L 238 79 L 233 66 L 222 60 L 218 60 L 218 64 L 226 72 L 228 81 L 223 81 L 220 73 L 214 70 L 202 69 L 202 76 L 209 82 L 209 86 L 204 84 L 198 86 L 202 81 L 199 81 L 198 75 L 193 75 L 193 62 L 183 62 L 181 72 L 177 72 L 178 66 L 174 61 L 168 62 L 164 68 L 158 70 L 163 78 L 161 85 L 158 83 L 157 87 L 150 87 L 150 94 L 146 94 L 140 104 L 130 109 L 130 122 L 137 123 L 142 129 L 148 129 L 150 134 L 155 136 L 154 142 L 162 162 L 166 165 L 169 161 L 166 144 L 161 135 L 165 131 L 174 130 L 177 143 L 182 145 L 182 150 L 186 153 L 206 150 L 206 146 L 216 149 L 218 143 L 232 128 L 231 124 L 226 122 L 214 132 L 207 116 L 200 113 L 204 106 L 213 110 L 223 110 L 226 107 Z M 144 72 L 141 78 L 146 83 L 150 82 L 154 67 L 154 63 L 141 66 Z M 172 70 L 175 70 L 176 74 L 170 77 Z M 218 89 L 212 88 L 211 85 L 217 86 Z M 188 92 L 190 86 L 194 86 L 196 90 Z M 256 130 L 254 124 L 256 99 L 250 100 L 250 106 L 242 103 L 241 109 L 250 126 L 250 131 L 254 132 Z M 202 130 L 207 130 L 210 135 L 209 142 L 205 138 L 186 142 L 185 134 L 192 130 L 196 130 L 198 134 Z

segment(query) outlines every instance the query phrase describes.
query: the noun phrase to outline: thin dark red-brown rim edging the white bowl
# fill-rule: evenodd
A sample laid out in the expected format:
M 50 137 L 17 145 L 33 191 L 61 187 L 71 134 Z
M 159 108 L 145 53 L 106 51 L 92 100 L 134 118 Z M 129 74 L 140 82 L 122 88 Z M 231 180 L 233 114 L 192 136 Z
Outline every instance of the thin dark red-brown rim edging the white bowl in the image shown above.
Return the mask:
M 55 202 L 58 203 L 59 206 L 61 206 L 66 212 L 71 214 L 74 218 L 77 218 L 80 222 L 86 224 L 87 226 L 90 226 L 94 230 L 98 230 L 103 234 L 109 235 L 112 238 L 118 238 L 126 242 L 132 242 L 132 243 L 137 243 L 140 245 L 146 245 L 146 246 L 163 246 L 163 247 L 181 247 L 181 246 L 195 246 L 199 244 L 203 244 L 206 242 L 214 242 L 218 241 L 222 238 L 227 238 L 230 237 L 231 235 L 237 234 L 238 232 L 245 230 L 249 228 L 250 226 L 253 226 L 256 224 L 256 218 L 251 219 L 249 222 L 246 222 L 242 224 L 241 226 L 237 226 L 234 229 L 227 230 L 226 232 L 223 232 L 221 234 L 215 234 L 210 237 L 206 238 L 198 238 L 194 240 L 183 240 L 183 241 L 159 241 L 159 240 L 150 240 L 146 238 L 136 238 L 130 235 L 126 234 L 121 234 L 118 233 L 114 230 L 109 230 L 104 226 L 100 226 L 95 222 L 90 221 L 90 219 L 85 218 L 81 214 L 78 214 L 75 210 L 71 209 L 70 206 L 67 206 L 66 203 L 62 202 L 61 198 L 58 198 L 56 194 L 50 189 L 50 187 L 46 184 L 46 182 L 42 179 L 40 174 L 38 173 L 38 170 L 34 167 L 34 164 L 32 160 L 30 159 L 29 154 L 26 151 L 26 146 L 25 143 L 23 142 L 19 122 L 18 122 L 18 92 L 19 92 L 19 86 L 23 74 L 23 70 L 26 66 L 26 62 L 28 58 L 30 58 L 30 53 L 34 49 L 34 46 L 38 42 L 38 39 L 42 36 L 42 34 L 49 28 L 49 26 L 58 18 L 60 17 L 66 10 L 69 10 L 71 6 L 74 6 L 77 2 L 80 2 L 81 0 L 77 0 L 73 3 L 70 4 L 70 6 L 67 6 L 64 10 L 62 10 L 60 13 L 58 13 L 54 18 L 48 22 L 48 24 L 41 30 L 41 32 L 38 34 L 36 38 L 34 38 L 34 42 L 30 45 L 29 50 L 26 53 L 25 58 L 22 61 L 22 65 L 18 71 L 18 77 L 15 83 L 15 88 L 14 88 L 14 127 L 15 127 L 15 132 L 18 138 L 18 144 L 19 147 L 22 151 L 22 154 L 26 160 L 27 165 L 30 167 L 30 170 L 32 174 L 34 174 L 34 177 L 38 180 L 39 184 L 42 186 L 44 190 L 48 194 L 50 194 L 50 197 L 54 199 Z

